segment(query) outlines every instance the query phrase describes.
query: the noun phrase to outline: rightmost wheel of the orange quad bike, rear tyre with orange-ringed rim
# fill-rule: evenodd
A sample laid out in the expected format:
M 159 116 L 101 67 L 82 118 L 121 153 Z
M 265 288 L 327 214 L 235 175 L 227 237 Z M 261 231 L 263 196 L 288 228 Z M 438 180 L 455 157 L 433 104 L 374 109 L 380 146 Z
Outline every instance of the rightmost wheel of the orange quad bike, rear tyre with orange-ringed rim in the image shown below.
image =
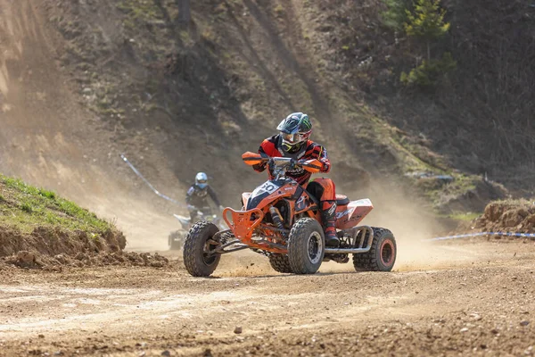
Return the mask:
M 398 253 L 396 239 L 388 229 L 373 229 L 374 241 L 371 249 L 366 253 L 353 254 L 353 266 L 357 271 L 391 271 Z M 366 238 L 368 236 L 369 233 L 366 233 Z

